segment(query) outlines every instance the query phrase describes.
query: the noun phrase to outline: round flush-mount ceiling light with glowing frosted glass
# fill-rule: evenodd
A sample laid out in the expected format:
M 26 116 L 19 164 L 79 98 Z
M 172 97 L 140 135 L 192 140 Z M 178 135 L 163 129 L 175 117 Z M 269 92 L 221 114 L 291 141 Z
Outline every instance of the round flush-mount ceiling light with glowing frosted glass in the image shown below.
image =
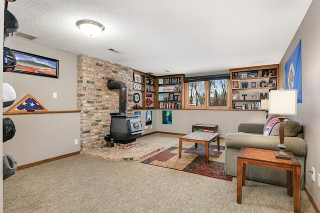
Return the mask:
M 94 20 L 78 20 L 75 23 L 81 32 L 90 37 L 96 37 L 104 30 L 104 26 Z

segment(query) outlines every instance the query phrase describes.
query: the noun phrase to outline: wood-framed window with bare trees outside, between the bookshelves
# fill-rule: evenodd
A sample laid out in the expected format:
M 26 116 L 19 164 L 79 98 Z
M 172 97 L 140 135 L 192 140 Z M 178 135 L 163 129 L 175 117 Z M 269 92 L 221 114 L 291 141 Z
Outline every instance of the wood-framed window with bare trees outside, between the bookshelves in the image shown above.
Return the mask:
M 228 108 L 229 74 L 185 78 L 185 108 Z

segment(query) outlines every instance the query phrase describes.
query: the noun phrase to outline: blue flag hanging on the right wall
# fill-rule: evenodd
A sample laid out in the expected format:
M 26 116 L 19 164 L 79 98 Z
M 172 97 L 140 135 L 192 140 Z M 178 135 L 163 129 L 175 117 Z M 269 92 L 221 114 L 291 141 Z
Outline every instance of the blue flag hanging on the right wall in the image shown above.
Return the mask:
M 284 64 L 285 89 L 297 89 L 297 102 L 302 102 L 301 95 L 301 40 L 294 49 L 291 57 Z

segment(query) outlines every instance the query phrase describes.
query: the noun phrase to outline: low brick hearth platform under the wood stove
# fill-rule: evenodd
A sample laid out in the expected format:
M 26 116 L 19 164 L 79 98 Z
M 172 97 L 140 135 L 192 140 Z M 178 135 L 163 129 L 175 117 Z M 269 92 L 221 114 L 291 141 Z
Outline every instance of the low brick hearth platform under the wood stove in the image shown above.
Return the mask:
M 139 160 L 164 148 L 164 146 L 158 142 L 141 139 L 136 139 L 136 142 L 136 146 L 129 149 L 98 147 L 82 151 L 82 154 L 99 157 L 106 160 Z

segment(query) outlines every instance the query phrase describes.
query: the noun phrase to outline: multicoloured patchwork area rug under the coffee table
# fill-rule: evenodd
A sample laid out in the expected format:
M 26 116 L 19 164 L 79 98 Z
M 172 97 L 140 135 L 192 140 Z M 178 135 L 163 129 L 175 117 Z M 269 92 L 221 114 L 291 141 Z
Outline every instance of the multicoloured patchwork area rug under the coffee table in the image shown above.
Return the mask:
M 180 159 L 178 158 L 179 144 L 175 144 L 141 162 L 232 181 L 232 176 L 224 173 L 224 149 L 225 147 L 220 145 L 220 151 L 218 151 L 217 145 L 209 144 L 209 162 L 205 163 L 204 144 L 198 143 L 198 147 L 195 148 L 194 143 L 182 143 Z

